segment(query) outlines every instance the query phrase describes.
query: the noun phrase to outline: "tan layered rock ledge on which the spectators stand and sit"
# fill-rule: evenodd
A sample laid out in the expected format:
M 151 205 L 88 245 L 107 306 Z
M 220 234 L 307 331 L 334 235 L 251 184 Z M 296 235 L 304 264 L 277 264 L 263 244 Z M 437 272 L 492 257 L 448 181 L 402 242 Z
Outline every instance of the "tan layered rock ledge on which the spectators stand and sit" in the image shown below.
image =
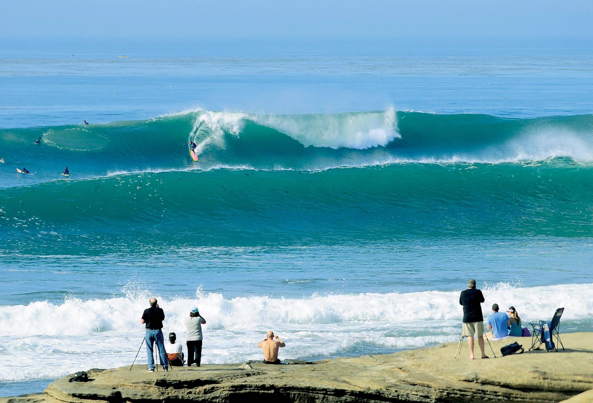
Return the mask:
M 146 365 L 135 365 L 131 372 L 129 367 L 93 369 L 88 371 L 90 382 L 68 382 L 65 377 L 43 394 L 3 398 L 0 403 L 589 401 L 593 335 L 564 334 L 562 340 L 566 351 L 507 357 L 500 357 L 500 347 L 518 341 L 527 350 L 530 338 L 492 341 L 499 358 L 473 361 L 467 359 L 467 343 L 457 359 L 457 343 L 448 343 L 390 355 L 276 366 L 212 364 L 154 373 L 146 373 Z M 486 351 L 492 357 L 488 344 Z

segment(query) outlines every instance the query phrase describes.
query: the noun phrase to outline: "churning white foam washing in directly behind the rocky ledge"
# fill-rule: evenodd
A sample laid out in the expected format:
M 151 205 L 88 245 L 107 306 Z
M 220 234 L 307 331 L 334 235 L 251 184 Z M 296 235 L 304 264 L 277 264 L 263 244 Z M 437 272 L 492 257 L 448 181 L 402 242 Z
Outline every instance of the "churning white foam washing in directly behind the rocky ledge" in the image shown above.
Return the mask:
M 482 306 L 487 315 L 492 303 L 513 305 L 525 323 L 551 318 L 559 307 L 566 308 L 563 321 L 591 321 L 591 295 L 593 284 L 495 286 L 484 290 Z M 462 316 L 458 296 L 458 291 L 425 291 L 228 299 L 199 290 L 192 299 L 159 299 L 167 316 L 165 334 L 177 332 L 183 343 L 184 320 L 196 305 L 208 321 L 203 326 L 203 362 L 233 363 L 260 358 L 255 345 L 267 330 L 278 332 L 286 341 L 283 359 L 357 355 L 453 341 Z M 62 303 L 5 306 L 0 312 L 4 360 L 0 380 L 57 377 L 90 367 L 129 364 L 142 341 L 139 319 L 147 298 L 135 292 L 128 298 L 68 298 Z M 321 340 L 331 347 L 318 347 Z M 145 359 L 143 349 L 138 362 Z

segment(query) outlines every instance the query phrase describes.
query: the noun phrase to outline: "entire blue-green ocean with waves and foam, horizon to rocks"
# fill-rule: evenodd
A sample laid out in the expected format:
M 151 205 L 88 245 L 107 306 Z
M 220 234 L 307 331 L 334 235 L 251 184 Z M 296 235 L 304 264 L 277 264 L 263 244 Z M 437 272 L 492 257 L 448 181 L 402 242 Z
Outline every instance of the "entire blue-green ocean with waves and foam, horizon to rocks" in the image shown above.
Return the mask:
M 199 307 L 203 363 L 456 341 L 470 278 L 484 315 L 593 331 L 592 66 L 576 37 L 3 41 L 0 396 L 132 363 L 151 296 L 182 343 Z

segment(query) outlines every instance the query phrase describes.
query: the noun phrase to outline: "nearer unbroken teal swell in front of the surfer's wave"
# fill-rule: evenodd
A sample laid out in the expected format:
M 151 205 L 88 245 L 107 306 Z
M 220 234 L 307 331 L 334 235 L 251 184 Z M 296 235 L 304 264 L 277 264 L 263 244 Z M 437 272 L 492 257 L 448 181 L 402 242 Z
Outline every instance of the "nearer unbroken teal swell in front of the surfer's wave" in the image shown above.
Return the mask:
M 592 194 L 593 168 L 563 159 L 158 172 L 4 189 L 0 228 L 4 252 L 592 236 Z

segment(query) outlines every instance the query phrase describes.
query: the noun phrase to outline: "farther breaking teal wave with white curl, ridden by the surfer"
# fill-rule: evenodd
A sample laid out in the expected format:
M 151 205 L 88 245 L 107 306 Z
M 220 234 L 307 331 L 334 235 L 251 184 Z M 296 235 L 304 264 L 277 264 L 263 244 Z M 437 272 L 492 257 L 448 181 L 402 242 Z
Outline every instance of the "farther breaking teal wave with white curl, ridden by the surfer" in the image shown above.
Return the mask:
M 0 187 L 142 171 L 315 171 L 402 162 L 593 161 L 593 116 L 505 119 L 394 110 L 265 115 L 196 111 L 146 121 L 0 130 Z M 42 137 L 42 144 L 34 140 Z M 192 161 L 188 139 L 197 143 Z M 12 174 L 27 167 L 34 175 Z

